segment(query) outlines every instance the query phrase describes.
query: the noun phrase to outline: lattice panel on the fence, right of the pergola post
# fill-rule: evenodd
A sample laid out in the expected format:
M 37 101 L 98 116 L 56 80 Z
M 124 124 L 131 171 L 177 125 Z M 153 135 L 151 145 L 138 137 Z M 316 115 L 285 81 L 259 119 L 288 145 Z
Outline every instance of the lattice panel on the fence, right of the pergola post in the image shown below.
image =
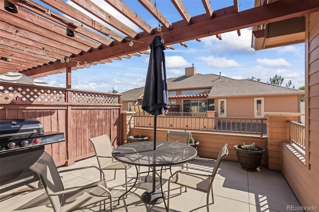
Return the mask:
M 80 104 L 119 104 L 119 96 L 102 93 L 72 91 L 72 103 Z

